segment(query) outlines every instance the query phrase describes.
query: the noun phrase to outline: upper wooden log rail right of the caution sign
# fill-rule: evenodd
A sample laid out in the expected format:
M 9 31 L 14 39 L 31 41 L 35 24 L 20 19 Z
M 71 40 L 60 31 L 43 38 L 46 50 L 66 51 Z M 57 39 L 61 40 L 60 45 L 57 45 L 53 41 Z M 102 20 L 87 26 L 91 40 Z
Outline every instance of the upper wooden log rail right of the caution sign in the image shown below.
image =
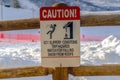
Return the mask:
M 97 13 L 81 16 L 81 26 L 119 26 L 120 14 Z

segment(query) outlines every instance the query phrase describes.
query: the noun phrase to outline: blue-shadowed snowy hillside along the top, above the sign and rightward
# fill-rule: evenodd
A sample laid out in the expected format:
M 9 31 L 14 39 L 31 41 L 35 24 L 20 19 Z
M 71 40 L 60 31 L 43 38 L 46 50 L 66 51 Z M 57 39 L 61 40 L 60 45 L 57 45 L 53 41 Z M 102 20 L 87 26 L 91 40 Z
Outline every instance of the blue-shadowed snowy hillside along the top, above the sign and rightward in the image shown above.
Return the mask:
M 30 0 L 37 6 L 51 6 L 55 2 L 65 2 L 68 5 L 80 6 L 83 11 L 113 11 L 120 10 L 120 0 Z M 42 2 L 42 3 L 41 3 Z

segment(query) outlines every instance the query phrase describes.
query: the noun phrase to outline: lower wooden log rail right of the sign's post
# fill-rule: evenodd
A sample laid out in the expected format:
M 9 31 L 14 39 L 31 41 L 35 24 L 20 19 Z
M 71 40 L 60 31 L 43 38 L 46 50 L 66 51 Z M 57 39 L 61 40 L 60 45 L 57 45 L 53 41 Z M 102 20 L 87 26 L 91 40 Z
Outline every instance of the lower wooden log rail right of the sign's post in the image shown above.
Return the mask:
M 70 69 L 74 76 L 120 76 L 120 65 L 80 66 Z

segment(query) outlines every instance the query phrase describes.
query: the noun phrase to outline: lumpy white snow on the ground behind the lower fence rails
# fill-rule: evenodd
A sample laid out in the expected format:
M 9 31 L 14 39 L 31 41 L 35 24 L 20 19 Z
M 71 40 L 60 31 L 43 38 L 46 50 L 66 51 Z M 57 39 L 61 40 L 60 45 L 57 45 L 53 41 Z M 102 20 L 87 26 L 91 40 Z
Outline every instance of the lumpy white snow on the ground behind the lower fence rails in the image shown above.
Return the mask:
M 101 42 L 81 42 L 81 64 L 101 65 L 120 63 L 120 40 L 111 35 Z M 0 68 L 40 66 L 40 42 L 0 44 Z M 51 80 L 48 77 L 34 77 L 35 80 Z M 32 80 L 34 78 L 27 78 Z M 23 80 L 7 79 L 7 80 Z M 74 77 L 69 80 L 119 80 L 120 77 Z M 25 79 L 26 80 L 26 79 Z

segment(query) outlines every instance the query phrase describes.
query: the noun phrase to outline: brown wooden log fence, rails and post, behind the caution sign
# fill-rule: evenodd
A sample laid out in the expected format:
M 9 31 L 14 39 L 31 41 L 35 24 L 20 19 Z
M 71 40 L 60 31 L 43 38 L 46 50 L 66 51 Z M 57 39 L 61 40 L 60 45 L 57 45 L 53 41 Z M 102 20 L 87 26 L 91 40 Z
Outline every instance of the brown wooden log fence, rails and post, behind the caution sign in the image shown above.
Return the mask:
M 109 13 L 109 12 L 107 12 Z M 120 25 L 120 14 L 92 14 L 81 16 L 81 27 L 84 26 L 114 26 Z M 0 21 L 0 30 L 21 30 L 40 28 L 39 19 L 24 19 Z M 53 80 L 68 80 L 68 74 L 74 76 L 118 76 L 120 64 L 101 66 L 57 67 L 44 68 L 41 66 L 0 69 L 0 78 L 21 78 L 31 76 L 46 76 L 52 74 Z

